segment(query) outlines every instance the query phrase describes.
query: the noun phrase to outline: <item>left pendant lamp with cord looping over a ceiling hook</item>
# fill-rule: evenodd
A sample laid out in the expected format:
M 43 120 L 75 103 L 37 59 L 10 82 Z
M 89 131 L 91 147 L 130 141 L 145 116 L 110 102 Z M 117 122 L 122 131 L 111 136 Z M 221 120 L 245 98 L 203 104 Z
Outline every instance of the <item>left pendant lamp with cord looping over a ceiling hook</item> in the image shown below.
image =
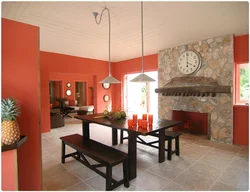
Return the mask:
M 109 76 L 106 77 L 105 79 L 103 79 L 100 83 L 110 83 L 110 84 L 113 84 L 113 83 L 121 83 L 119 80 L 117 80 L 116 78 L 114 78 L 111 74 L 111 70 L 110 70 L 110 29 L 111 29 L 111 23 L 110 23 L 110 12 L 109 12 L 109 9 L 107 7 L 105 7 L 103 10 L 102 10 L 102 13 L 100 15 L 100 19 L 99 21 L 97 21 L 97 15 L 99 13 L 97 12 L 93 12 L 93 15 L 95 17 L 95 22 L 99 25 L 101 23 L 101 20 L 102 20 L 102 15 L 103 15 L 103 12 L 104 11 L 107 11 L 108 12 L 108 16 L 109 16 Z

